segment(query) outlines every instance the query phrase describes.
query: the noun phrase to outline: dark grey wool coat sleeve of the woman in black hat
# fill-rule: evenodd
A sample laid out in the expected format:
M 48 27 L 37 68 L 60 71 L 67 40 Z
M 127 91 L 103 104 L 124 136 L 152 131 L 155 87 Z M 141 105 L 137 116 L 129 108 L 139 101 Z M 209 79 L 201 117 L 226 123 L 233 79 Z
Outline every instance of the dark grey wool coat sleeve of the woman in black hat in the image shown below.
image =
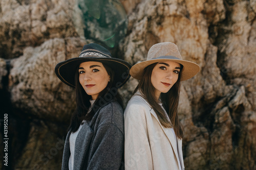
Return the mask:
M 119 169 L 123 143 L 123 133 L 115 124 L 103 124 L 98 127 L 87 169 Z

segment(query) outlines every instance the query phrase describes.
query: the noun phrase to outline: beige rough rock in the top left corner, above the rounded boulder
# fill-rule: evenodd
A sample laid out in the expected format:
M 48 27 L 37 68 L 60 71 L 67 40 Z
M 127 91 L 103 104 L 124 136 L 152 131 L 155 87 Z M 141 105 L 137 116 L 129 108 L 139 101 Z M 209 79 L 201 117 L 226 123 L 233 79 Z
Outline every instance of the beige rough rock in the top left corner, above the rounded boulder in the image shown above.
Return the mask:
M 19 57 L 49 38 L 76 36 L 73 8 L 73 1 L 1 1 L 2 58 Z

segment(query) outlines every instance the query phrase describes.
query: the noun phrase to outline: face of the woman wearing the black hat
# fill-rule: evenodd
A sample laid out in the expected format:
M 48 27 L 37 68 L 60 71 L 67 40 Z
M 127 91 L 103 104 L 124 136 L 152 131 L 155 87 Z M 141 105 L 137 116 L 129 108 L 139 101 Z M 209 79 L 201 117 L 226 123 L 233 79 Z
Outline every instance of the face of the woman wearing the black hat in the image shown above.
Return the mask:
M 92 100 L 108 85 L 110 76 L 101 62 L 88 61 L 79 65 L 79 82 Z

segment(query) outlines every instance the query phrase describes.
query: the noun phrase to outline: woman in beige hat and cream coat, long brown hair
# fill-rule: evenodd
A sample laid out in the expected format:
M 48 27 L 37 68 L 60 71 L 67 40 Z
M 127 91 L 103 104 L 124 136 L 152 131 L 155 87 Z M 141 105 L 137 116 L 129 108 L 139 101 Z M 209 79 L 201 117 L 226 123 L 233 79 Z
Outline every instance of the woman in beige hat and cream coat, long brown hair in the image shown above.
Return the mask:
M 172 42 L 153 45 L 130 74 L 140 80 L 124 111 L 125 169 L 184 169 L 177 108 L 180 82 L 200 70 Z

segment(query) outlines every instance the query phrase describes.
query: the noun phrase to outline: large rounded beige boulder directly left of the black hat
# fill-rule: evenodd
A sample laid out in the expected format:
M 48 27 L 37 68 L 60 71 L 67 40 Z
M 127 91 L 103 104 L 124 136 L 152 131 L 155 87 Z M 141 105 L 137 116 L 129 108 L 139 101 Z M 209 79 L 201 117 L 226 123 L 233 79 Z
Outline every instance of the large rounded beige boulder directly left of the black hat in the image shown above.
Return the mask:
M 80 38 L 55 38 L 25 48 L 24 55 L 11 62 L 9 88 L 13 105 L 38 118 L 69 122 L 75 92 L 57 78 L 54 68 L 58 62 L 77 57 L 86 43 Z

